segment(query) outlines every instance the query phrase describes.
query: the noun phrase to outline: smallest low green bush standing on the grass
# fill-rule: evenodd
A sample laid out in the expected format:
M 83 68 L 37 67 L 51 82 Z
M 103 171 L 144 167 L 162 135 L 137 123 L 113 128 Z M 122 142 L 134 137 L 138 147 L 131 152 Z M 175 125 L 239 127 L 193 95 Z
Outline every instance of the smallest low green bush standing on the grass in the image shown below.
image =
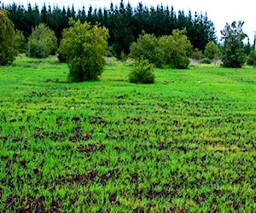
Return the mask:
M 130 83 L 154 83 L 154 66 L 148 60 L 136 60 L 129 74 Z

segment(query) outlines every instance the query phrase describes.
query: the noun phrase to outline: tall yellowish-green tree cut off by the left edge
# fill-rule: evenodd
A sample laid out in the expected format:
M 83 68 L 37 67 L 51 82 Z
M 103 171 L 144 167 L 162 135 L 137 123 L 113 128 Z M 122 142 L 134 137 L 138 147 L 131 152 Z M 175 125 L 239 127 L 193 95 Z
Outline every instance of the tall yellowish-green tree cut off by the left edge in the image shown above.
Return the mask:
M 11 64 L 17 54 L 14 25 L 5 10 L 0 9 L 0 65 Z

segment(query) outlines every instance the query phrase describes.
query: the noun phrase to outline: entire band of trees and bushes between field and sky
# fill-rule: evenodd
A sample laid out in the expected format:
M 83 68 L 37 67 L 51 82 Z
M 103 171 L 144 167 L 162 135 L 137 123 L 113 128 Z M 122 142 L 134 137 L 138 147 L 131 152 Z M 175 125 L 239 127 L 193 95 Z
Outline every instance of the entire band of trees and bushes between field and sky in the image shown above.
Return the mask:
M 123 1 L 100 11 L 90 7 L 87 13 L 84 8 L 76 13 L 72 7 L 66 12 L 46 9 L 44 4 L 39 12 L 37 5 L 25 9 L 15 3 L 0 8 L 0 65 L 11 64 L 19 52 L 36 58 L 57 53 L 69 66 L 69 80 L 79 82 L 98 79 L 108 52 L 121 60 L 135 60 L 132 83 L 154 83 L 154 67 L 185 69 L 189 58 L 202 63 L 222 60 L 224 67 L 241 67 L 246 61 L 256 65 L 254 46 L 249 40 L 243 43 L 247 37 L 243 21 L 226 24 L 219 45 L 207 14 L 192 17 L 190 11 L 176 14 L 173 7 L 148 9 L 143 3 L 132 9 Z

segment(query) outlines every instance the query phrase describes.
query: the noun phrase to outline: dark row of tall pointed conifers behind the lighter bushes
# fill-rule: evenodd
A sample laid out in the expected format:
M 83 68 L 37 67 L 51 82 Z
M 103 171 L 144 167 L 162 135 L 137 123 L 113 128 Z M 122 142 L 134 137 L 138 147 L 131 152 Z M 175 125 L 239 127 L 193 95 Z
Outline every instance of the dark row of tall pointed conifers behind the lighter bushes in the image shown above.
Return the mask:
M 154 34 L 156 37 L 171 35 L 174 29 L 186 28 L 186 36 L 189 37 L 194 49 L 204 50 L 207 43 L 216 41 L 217 37 L 212 20 L 206 14 L 185 14 L 183 10 L 174 10 L 162 4 L 156 8 L 138 3 L 134 8 L 131 3 L 120 1 L 119 5 L 110 4 L 109 8 L 88 9 L 84 7 L 75 11 L 74 7 L 58 6 L 53 8 L 44 3 L 42 9 L 31 3 L 25 7 L 22 4 L 2 4 L 2 9 L 9 11 L 9 19 L 14 23 L 15 29 L 23 32 L 26 39 L 31 35 L 32 28 L 44 23 L 55 32 L 58 43 L 61 41 L 61 32 L 66 29 L 70 18 L 80 20 L 81 23 L 98 23 L 108 28 L 108 45 L 113 55 L 121 58 L 130 53 L 131 43 L 136 42 L 143 33 Z

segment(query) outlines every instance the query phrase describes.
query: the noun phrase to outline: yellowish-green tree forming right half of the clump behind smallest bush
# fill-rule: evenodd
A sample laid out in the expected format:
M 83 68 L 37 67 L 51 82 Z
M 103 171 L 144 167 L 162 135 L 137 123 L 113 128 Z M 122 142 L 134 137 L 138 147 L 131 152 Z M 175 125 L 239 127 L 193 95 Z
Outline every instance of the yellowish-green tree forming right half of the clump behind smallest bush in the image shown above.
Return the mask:
M 185 69 L 189 66 L 192 45 L 185 32 L 185 30 L 174 30 L 172 36 L 160 37 L 160 48 L 165 53 L 165 64 L 177 69 Z

